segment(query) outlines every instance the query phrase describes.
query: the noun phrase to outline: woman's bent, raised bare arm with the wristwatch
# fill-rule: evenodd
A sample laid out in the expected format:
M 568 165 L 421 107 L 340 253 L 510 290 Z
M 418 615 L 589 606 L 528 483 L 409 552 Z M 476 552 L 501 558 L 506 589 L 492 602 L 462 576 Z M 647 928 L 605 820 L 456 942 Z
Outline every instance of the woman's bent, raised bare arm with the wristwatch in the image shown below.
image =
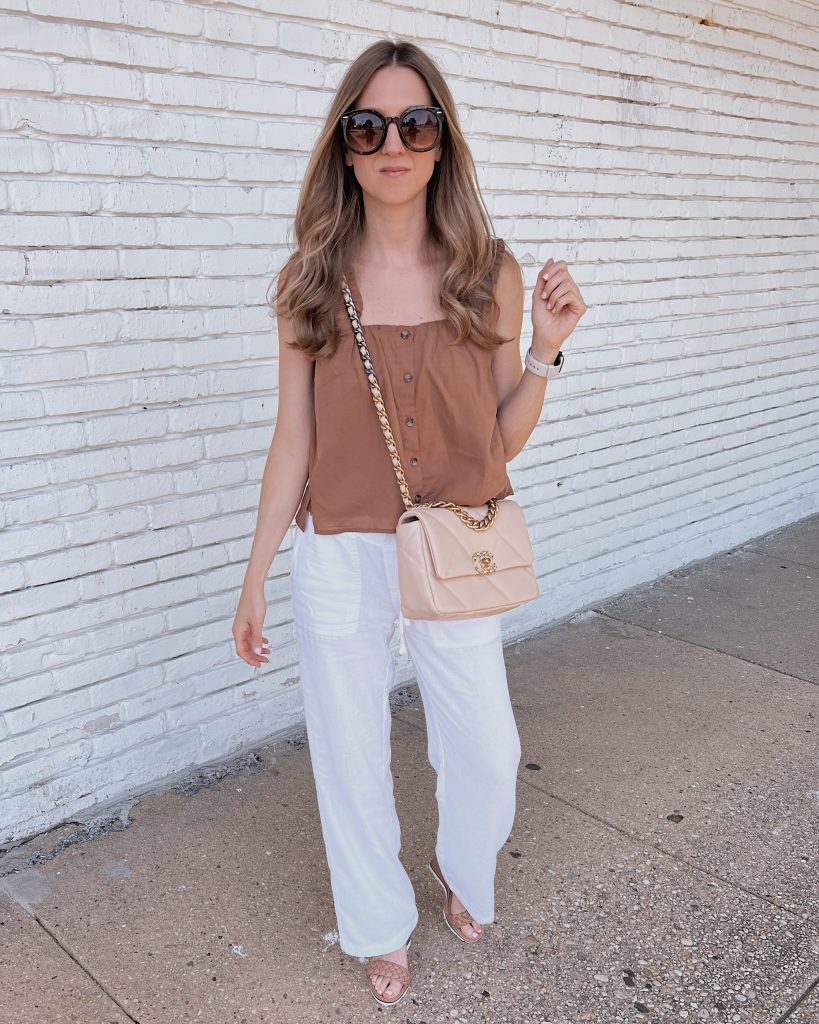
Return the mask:
M 495 299 L 501 311 L 495 329 L 514 340 L 494 350 L 492 378 L 498 395 L 498 423 L 506 461 L 511 462 L 537 425 L 546 394 L 547 378 L 522 369 L 520 332 L 523 325 L 523 275 L 518 261 L 508 253 L 501 264 Z M 531 306 L 531 354 L 552 364 L 587 305 L 568 271 L 559 260 L 547 260 L 537 274 Z

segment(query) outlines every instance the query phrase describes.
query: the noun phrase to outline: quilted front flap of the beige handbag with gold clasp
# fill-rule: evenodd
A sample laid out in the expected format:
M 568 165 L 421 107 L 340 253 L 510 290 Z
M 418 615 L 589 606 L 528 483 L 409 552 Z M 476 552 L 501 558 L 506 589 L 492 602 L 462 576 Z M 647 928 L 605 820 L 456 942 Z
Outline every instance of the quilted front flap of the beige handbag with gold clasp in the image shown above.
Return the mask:
M 485 505 L 464 505 L 476 519 L 486 514 Z M 475 577 L 476 568 L 494 565 L 493 571 L 531 565 L 533 553 L 523 509 L 517 502 L 498 502 L 491 526 L 470 529 L 451 509 L 406 509 L 398 524 L 418 521 L 436 577 Z

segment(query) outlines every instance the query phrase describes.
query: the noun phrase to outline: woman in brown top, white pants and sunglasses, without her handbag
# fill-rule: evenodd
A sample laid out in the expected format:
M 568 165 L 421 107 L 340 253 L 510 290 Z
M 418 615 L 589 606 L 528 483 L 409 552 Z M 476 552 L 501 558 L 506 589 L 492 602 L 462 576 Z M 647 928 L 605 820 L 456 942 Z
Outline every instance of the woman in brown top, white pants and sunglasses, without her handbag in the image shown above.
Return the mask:
M 488 229 L 449 89 L 412 43 L 378 42 L 347 70 L 295 227 L 298 251 L 276 296 L 277 419 L 233 637 L 248 665 L 267 664 L 263 583 L 295 514 L 294 621 L 339 940 L 370 957 L 371 991 L 391 1006 L 410 982 L 418 923 L 390 770 L 396 626 L 437 774 L 429 866 L 445 893 L 444 920 L 465 942 L 494 919 L 520 741 L 500 615 L 400 615 L 395 525 L 404 506 L 342 284 L 416 502 L 479 505 L 512 494 L 506 463 L 537 423 L 541 374 L 561 365 L 560 345 L 586 306 L 566 264 L 550 259 L 532 307 L 537 361 L 523 373 L 520 268 Z

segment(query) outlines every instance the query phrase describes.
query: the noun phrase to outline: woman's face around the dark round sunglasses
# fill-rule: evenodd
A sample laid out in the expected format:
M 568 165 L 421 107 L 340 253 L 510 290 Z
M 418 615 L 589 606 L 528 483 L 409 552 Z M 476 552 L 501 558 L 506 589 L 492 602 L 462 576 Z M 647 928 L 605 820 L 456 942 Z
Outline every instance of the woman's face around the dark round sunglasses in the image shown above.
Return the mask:
M 355 106 L 372 108 L 387 117 L 397 116 L 407 106 L 431 106 L 432 96 L 424 79 L 412 68 L 380 68 L 358 96 Z M 444 131 L 446 129 L 444 128 Z M 358 183 L 371 198 L 386 205 L 407 203 L 424 191 L 440 160 L 440 142 L 427 153 L 414 153 L 401 141 L 398 126 L 390 124 L 384 145 L 371 156 L 344 147 L 344 162 L 353 168 Z M 404 174 L 383 173 L 384 168 L 406 168 Z

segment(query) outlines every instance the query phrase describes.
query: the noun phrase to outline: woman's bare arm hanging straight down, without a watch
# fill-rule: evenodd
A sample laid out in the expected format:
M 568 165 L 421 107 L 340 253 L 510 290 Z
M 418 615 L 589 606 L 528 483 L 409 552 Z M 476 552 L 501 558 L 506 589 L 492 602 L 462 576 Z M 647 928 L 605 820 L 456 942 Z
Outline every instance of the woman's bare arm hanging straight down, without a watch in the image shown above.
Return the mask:
M 257 668 L 267 658 L 262 649 L 264 581 L 290 529 L 307 482 L 313 427 L 313 362 L 294 340 L 290 318 L 278 313 L 278 411 L 262 474 L 256 529 L 233 622 L 236 653 Z

